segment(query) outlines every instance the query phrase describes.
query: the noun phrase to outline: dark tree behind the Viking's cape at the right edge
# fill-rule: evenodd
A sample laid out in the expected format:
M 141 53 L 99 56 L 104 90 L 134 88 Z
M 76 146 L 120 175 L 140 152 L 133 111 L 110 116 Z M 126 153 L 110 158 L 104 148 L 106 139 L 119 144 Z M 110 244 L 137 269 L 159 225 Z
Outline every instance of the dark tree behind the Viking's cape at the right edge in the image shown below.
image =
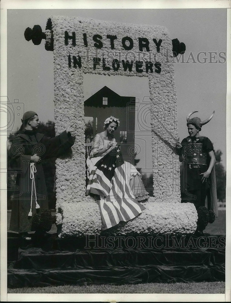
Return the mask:
M 214 165 L 216 171 L 216 194 L 217 199 L 224 202 L 226 200 L 226 170 L 221 163 L 222 154 L 222 151 L 219 149 L 217 151 L 214 151 L 216 158 L 216 163 Z

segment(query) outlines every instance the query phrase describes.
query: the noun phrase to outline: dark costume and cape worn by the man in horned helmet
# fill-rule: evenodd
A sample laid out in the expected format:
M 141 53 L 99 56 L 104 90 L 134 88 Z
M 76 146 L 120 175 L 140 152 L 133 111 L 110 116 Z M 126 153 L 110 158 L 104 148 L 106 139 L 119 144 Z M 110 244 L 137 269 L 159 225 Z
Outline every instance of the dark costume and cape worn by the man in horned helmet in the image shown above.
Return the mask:
M 181 169 L 181 201 L 191 202 L 196 209 L 205 206 L 206 196 L 208 198 L 208 209 L 212 209 L 217 215 L 216 177 L 215 169 L 206 181 L 202 183 L 202 173 L 206 172 L 213 151 L 213 144 L 207 137 L 200 136 L 191 138 L 188 136 L 181 142 L 182 148 L 179 159 L 183 160 Z

